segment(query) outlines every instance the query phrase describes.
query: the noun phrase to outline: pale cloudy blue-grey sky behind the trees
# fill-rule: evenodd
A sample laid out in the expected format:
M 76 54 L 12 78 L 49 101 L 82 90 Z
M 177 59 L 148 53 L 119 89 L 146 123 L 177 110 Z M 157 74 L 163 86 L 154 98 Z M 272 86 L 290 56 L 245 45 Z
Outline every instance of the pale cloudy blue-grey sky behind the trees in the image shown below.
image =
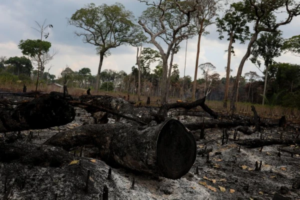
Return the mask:
M 52 43 L 52 49 L 59 49 L 59 53 L 47 66 L 50 65 L 50 73 L 58 76 L 65 65 L 69 65 L 73 70 L 79 70 L 82 67 L 89 67 L 92 74 L 96 74 L 99 57 L 95 54 L 94 46 L 84 44 L 82 38 L 74 36 L 75 28 L 67 25 L 66 18 L 70 17 L 77 9 L 84 4 L 93 2 L 96 5 L 102 3 L 113 4 L 115 0 L 0 0 L 0 56 L 21 56 L 21 51 L 17 44 L 21 39 L 37 39 L 39 33 L 31 27 L 36 27 L 35 20 L 42 23 L 47 19 L 47 24 L 53 25 L 49 30 L 50 35 L 47 41 Z M 146 5 L 138 0 L 118 0 L 124 4 L 126 9 L 131 10 L 138 17 Z M 280 14 L 279 19 L 284 19 L 285 15 Z M 283 31 L 283 37 L 288 38 L 300 34 L 300 16 L 294 18 L 291 23 L 280 26 Z M 216 66 L 216 71 L 225 75 L 224 66 L 226 65 L 228 42 L 226 39 L 219 40 L 215 25 L 207 28 L 210 34 L 203 36 L 200 46 L 199 64 L 211 62 Z M 180 76 L 183 76 L 185 44 L 181 43 L 180 51 L 175 55 L 174 62 L 179 65 Z M 185 75 L 193 77 L 195 56 L 196 56 L 197 37 L 188 40 L 186 70 Z M 247 43 L 246 43 L 247 44 Z M 238 64 L 246 51 L 246 44 L 234 44 L 235 56 L 231 58 L 232 75 L 236 75 Z M 154 49 L 155 46 L 152 46 Z M 50 50 L 51 51 L 51 50 Z M 131 71 L 131 66 L 135 64 L 136 48 L 131 46 L 120 46 L 111 50 L 111 55 L 104 59 L 103 69 L 124 70 L 127 73 Z M 300 63 L 300 57 L 283 54 L 276 61 Z M 243 73 L 249 70 L 261 72 L 247 60 Z M 263 69 L 262 69 L 263 70 Z M 198 78 L 201 76 L 198 73 Z

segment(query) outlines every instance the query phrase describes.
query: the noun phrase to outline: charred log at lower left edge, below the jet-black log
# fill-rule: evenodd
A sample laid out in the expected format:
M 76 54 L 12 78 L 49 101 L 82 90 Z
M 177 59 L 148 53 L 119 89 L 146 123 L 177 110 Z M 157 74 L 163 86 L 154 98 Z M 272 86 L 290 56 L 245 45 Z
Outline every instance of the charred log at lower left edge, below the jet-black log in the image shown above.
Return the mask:
M 0 162 L 16 162 L 44 167 L 61 167 L 70 163 L 73 156 L 55 146 L 37 145 L 16 141 L 0 145 Z

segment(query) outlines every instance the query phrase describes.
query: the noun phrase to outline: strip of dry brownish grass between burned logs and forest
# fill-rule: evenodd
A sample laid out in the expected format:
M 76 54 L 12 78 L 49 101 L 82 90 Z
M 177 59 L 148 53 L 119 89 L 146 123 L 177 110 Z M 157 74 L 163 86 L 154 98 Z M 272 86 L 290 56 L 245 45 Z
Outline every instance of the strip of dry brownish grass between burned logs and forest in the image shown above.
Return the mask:
M 5 84 L 1 84 L 0 91 L 11 91 L 11 92 L 21 92 L 23 88 L 22 83 L 9 83 L 5 82 Z M 35 85 L 34 84 L 28 84 L 27 85 L 27 91 L 34 91 Z M 47 91 L 49 92 L 46 84 L 40 84 L 38 87 L 39 91 Z M 83 88 L 76 88 L 76 87 L 68 87 L 68 93 L 74 96 L 79 96 L 82 94 L 86 94 L 86 89 Z M 94 92 L 91 90 L 92 95 L 111 95 L 114 97 L 121 97 L 123 98 L 126 96 L 126 92 L 113 92 L 113 91 L 98 91 Z M 129 94 L 129 99 L 132 101 L 137 102 L 137 94 Z M 150 96 L 151 105 L 152 106 L 159 106 L 157 104 L 157 99 L 160 99 L 160 96 Z M 169 103 L 176 102 L 178 98 L 176 97 L 170 97 Z M 146 104 L 147 96 L 141 96 L 140 102 L 141 104 Z M 205 102 L 211 109 L 217 111 L 226 113 L 229 111 L 229 102 L 227 103 L 227 109 L 223 108 L 223 102 L 222 101 L 215 101 L 215 100 L 206 100 Z M 299 120 L 300 116 L 300 110 L 298 108 L 294 107 L 283 107 L 279 105 L 270 106 L 270 105 L 261 105 L 261 104 L 252 104 L 247 102 L 237 102 L 236 103 L 236 112 L 241 115 L 246 116 L 252 116 L 253 112 L 251 111 L 251 105 L 255 106 L 255 109 L 262 118 L 280 118 L 282 115 L 285 115 L 287 120 L 297 121 Z

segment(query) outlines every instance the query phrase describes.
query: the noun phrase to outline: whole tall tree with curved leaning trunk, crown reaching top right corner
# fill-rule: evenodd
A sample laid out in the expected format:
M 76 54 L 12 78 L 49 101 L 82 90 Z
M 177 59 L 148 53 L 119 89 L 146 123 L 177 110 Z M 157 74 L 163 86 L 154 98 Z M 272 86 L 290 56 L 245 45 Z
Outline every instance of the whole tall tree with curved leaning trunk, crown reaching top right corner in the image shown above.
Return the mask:
M 257 39 L 258 33 L 261 31 L 267 31 L 267 32 L 276 32 L 277 28 L 280 25 L 285 25 L 289 23 L 293 17 L 300 14 L 299 12 L 299 6 L 300 3 L 296 3 L 294 0 L 244 0 L 244 6 L 245 11 L 248 13 L 248 16 L 250 19 L 253 20 L 254 25 L 253 29 L 254 32 L 252 33 L 251 39 L 247 46 L 247 51 L 242 57 L 237 73 L 236 73 L 236 79 L 233 84 L 232 92 L 231 92 L 231 99 L 230 99 L 230 110 L 233 112 L 235 108 L 235 102 L 237 99 L 236 93 L 237 93 L 237 87 L 238 87 L 238 81 L 241 76 L 243 65 L 246 61 L 246 59 L 251 54 L 251 47 L 255 40 Z M 285 20 L 283 21 L 276 21 L 276 16 L 274 13 L 278 9 L 285 9 L 287 16 Z

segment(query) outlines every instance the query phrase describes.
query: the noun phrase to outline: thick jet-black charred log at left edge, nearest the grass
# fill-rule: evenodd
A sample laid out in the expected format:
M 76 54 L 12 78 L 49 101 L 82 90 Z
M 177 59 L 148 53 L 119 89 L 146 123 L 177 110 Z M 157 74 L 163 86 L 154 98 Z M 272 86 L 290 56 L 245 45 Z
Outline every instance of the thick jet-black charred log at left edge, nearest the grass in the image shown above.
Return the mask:
M 74 108 L 55 94 L 12 107 L 0 107 L 0 132 L 43 129 L 64 125 L 75 117 Z

